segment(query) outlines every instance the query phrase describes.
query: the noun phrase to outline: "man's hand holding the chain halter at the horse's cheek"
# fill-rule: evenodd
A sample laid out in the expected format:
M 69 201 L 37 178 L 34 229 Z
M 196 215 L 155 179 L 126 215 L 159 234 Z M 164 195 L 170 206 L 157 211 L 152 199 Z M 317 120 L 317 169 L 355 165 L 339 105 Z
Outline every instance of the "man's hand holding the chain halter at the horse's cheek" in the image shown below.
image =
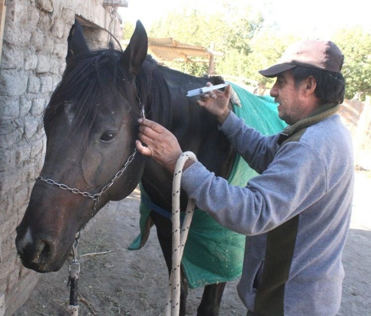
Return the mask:
M 183 153 L 176 137 L 159 123 L 149 119 L 140 118 L 138 122 L 140 124 L 138 134 L 140 141 L 136 141 L 137 150 L 145 156 L 154 158 L 159 164 L 174 173 L 176 162 Z M 141 141 L 147 147 L 143 146 Z M 183 169 L 191 164 L 187 161 Z

